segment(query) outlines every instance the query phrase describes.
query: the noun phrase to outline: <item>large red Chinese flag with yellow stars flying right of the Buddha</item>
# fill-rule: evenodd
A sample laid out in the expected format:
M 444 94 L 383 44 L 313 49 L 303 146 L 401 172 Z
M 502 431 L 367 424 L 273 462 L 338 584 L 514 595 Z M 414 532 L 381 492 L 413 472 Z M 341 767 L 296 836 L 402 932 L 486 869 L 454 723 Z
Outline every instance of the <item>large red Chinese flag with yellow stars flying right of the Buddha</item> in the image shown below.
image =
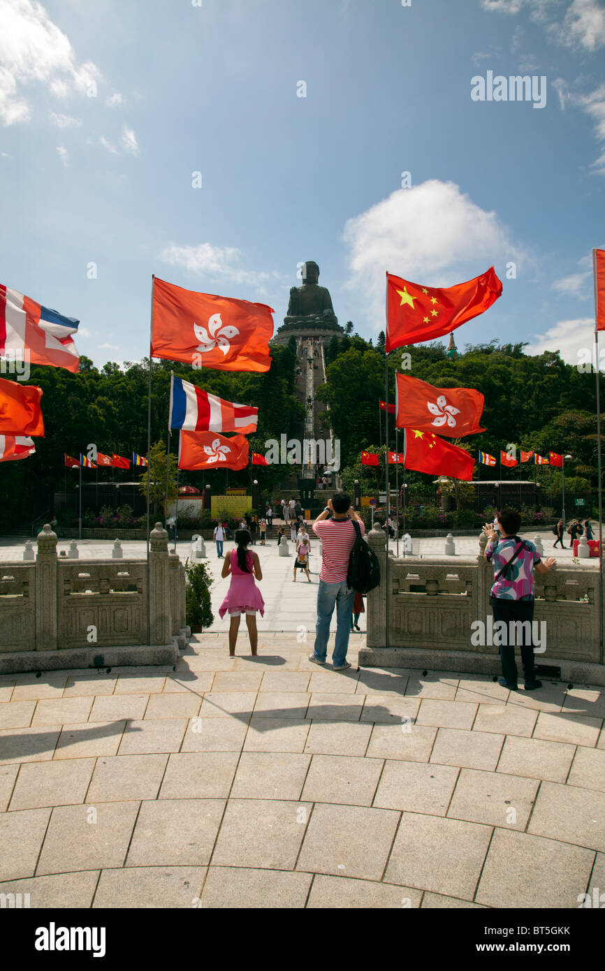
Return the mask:
M 502 293 L 492 266 L 465 284 L 437 289 L 387 273 L 387 352 L 432 341 L 483 314 Z

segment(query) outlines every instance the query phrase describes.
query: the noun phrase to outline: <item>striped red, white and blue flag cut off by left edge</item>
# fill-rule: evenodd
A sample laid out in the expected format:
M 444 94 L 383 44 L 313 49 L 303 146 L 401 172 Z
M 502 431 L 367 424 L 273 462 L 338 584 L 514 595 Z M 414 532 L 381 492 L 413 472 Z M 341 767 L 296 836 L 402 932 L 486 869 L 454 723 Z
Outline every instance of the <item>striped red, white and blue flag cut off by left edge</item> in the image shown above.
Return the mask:
M 71 337 L 79 323 L 0 284 L 0 357 L 79 371 L 80 356 Z

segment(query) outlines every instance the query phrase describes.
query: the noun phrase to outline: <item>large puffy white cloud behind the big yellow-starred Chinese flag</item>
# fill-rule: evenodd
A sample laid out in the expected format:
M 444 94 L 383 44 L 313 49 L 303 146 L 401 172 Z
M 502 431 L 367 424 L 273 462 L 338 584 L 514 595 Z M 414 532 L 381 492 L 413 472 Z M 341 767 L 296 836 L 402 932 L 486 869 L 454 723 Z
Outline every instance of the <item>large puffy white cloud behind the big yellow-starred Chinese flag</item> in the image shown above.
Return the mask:
M 451 286 L 484 273 L 496 260 L 526 258 L 495 213 L 471 202 L 459 186 L 431 180 L 397 189 L 349 219 L 343 234 L 351 277 L 370 320 L 385 317 L 385 272 L 415 283 Z

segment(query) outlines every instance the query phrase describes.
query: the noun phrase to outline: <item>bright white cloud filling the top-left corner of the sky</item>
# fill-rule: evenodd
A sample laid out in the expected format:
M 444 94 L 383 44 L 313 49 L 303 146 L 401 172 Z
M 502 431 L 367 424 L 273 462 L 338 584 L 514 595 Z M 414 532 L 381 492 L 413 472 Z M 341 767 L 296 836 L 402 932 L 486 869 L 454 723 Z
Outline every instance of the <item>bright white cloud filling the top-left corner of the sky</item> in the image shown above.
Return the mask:
M 0 3 L 0 118 L 5 125 L 28 121 L 29 102 L 18 88 L 47 84 L 56 95 L 90 94 L 101 81 L 91 62 L 79 64 L 69 39 L 35 0 Z

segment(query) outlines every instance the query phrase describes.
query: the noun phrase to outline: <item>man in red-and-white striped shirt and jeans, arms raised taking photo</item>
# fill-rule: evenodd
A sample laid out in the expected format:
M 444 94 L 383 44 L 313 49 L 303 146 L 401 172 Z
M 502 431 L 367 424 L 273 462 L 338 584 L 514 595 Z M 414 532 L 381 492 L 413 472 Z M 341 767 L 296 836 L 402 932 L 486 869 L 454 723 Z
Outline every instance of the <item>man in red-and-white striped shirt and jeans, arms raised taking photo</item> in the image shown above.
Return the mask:
M 328 499 L 326 508 L 313 524 L 313 531 L 321 540 L 321 570 L 315 650 L 309 655 L 309 660 L 316 664 L 325 664 L 330 621 L 336 607 L 336 641 L 332 654 L 335 671 L 351 667 L 347 660 L 347 650 L 351 633 L 354 590 L 347 586 L 347 573 L 349 557 L 355 542 L 352 517 L 359 523 L 363 536 L 365 529 L 363 520 L 353 510 L 351 496 L 346 492 L 336 492 L 332 499 Z

